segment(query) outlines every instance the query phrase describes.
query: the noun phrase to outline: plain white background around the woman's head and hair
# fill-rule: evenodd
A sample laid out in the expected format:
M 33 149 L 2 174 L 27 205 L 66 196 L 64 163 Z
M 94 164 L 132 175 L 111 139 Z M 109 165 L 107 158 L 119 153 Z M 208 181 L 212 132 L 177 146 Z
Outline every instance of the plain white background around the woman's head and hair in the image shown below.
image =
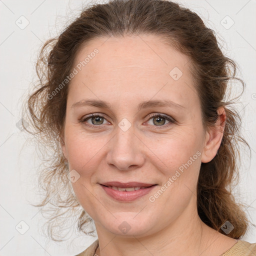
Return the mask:
M 94 2 L 94 1 L 93 1 Z M 102 2 L 102 1 L 101 1 Z M 240 181 L 234 193 L 237 200 L 250 205 L 249 219 L 256 224 L 256 1 L 191 0 L 178 1 L 197 12 L 225 43 L 223 52 L 239 64 L 239 76 L 246 89 L 239 106 L 242 134 L 252 148 L 251 160 L 242 152 Z M 55 36 L 86 3 L 80 0 L 0 0 L 0 255 L 75 255 L 95 238 L 74 233 L 69 240 L 56 243 L 41 232 L 43 218 L 36 202 L 36 168 L 40 164 L 33 145 L 24 145 L 27 135 L 16 123 L 20 120 L 21 101 L 33 80 L 39 47 Z M 23 15 L 29 24 L 20 29 L 16 20 Z M 234 24 L 226 29 L 221 25 Z M 223 19 L 225 17 L 225 19 Z M 20 22 L 20 21 L 19 21 Z M 24 24 L 24 23 L 23 23 Z M 29 229 L 20 234 L 15 226 L 25 221 Z M 242 238 L 256 242 L 251 226 Z

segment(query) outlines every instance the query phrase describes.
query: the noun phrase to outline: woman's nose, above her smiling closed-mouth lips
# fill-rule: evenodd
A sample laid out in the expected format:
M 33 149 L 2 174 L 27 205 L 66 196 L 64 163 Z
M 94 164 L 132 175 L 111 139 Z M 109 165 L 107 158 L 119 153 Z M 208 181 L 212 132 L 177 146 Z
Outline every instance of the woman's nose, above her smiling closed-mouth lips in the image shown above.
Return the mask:
M 130 170 L 143 165 L 145 145 L 135 135 L 132 126 L 126 131 L 117 126 L 110 141 L 106 156 L 107 164 L 115 166 L 119 170 Z

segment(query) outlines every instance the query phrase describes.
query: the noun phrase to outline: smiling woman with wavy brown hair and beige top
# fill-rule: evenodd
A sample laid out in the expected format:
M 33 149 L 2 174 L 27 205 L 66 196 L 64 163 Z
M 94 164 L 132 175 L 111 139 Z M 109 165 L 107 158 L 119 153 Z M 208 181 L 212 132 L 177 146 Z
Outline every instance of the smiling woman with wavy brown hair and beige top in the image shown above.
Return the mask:
M 55 194 L 79 230 L 94 221 L 79 255 L 255 255 L 229 189 L 247 144 L 223 100 L 235 67 L 171 1 L 95 4 L 44 44 L 28 99 L 54 149 L 38 206 Z

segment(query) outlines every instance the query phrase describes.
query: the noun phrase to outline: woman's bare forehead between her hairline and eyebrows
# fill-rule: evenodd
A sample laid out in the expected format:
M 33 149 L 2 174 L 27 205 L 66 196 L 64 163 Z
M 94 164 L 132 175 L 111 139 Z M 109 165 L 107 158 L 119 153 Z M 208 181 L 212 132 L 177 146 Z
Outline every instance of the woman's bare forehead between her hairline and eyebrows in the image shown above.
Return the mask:
M 127 98 L 141 91 L 145 98 L 168 93 L 175 94 L 177 103 L 186 103 L 196 96 L 191 94 L 195 89 L 189 57 L 155 35 L 94 38 L 77 52 L 73 67 L 79 63 L 83 66 L 70 82 L 76 95 L 88 90 L 86 84 L 97 96 L 101 91 L 101 98 L 104 93 L 113 96 L 118 84 L 119 92 L 125 92 Z

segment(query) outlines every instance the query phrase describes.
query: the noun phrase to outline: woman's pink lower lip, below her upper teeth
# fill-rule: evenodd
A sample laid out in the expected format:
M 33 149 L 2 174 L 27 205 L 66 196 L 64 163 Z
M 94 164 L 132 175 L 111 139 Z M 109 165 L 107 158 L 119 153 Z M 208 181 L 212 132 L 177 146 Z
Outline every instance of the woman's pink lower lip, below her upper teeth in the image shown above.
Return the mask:
M 134 191 L 119 191 L 119 190 L 114 190 L 107 186 L 103 186 L 101 184 L 100 184 L 100 186 L 105 190 L 105 192 L 109 196 L 111 196 L 112 198 L 114 198 L 118 201 L 133 201 L 133 200 L 149 193 L 156 185 L 152 185 L 147 188 L 140 188 L 140 189 L 134 190 Z

